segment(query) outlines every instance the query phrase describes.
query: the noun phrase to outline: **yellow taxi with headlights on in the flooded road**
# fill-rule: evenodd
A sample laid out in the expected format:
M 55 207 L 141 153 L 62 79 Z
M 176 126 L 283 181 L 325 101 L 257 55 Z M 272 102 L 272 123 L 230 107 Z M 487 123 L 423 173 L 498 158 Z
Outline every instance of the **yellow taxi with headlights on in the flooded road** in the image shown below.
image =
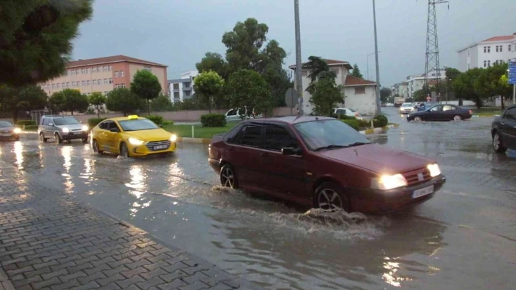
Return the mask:
M 90 134 L 91 146 L 96 154 L 105 151 L 132 157 L 176 151 L 175 134 L 136 115 L 105 119 Z

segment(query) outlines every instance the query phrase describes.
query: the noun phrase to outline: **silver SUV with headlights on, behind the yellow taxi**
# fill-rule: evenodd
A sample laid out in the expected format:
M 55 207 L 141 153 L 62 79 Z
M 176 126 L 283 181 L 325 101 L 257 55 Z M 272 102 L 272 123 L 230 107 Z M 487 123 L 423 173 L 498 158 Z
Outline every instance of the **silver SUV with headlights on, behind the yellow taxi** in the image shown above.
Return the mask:
M 82 142 L 86 143 L 88 130 L 89 128 L 77 121 L 75 117 L 62 115 L 43 115 L 38 126 L 38 134 L 42 142 L 53 138 L 55 143 L 73 139 L 82 139 Z

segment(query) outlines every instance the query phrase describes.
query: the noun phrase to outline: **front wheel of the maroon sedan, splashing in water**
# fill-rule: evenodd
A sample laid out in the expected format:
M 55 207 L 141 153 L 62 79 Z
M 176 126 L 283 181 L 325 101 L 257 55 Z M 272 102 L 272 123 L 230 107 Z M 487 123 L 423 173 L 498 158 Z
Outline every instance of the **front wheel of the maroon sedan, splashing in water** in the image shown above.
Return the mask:
M 316 189 L 315 206 L 322 210 L 350 211 L 350 201 L 344 194 L 344 188 L 333 182 L 325 182 L 318 186 Z

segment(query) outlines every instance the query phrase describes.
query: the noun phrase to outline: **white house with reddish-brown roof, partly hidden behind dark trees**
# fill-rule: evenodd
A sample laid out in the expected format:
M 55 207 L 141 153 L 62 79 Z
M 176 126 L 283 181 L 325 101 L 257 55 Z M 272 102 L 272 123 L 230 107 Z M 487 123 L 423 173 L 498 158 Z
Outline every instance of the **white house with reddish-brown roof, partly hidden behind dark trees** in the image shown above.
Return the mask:
M 363 80 L 350 75 L 350 70 L 353 69 L 353 67 L 347 61 L 327 59 L 324 59 L 324 61 L 328 63 L 330 70 L 337 75 L 335 78 L 337 85 L 344 86 L 344 104 L 340 104 L 339 106 L 355 109 L 365 115 L 375 115 L 377 111 L 376 82 Z M 312 96 L 309 92 L 306 92 L 306 88 L 311 82 L 308 77 L 310 70 L 305 66 L 306 63 L 303 63 L 303 110 L 304 114 L 311 114 L 313 112 L 313 106 L 309 101 Z M 289 68 L 295 71 L 296 65 L 291 65 Z M 294 87 L 295 86 L 296 84 L 294 84 Z

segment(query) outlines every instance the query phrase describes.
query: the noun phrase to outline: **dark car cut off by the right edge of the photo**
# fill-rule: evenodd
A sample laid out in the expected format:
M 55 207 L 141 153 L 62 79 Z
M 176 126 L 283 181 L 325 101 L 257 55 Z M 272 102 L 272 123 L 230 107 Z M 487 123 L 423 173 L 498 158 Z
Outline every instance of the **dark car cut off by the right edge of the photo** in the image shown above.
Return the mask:
M 500 117 L 495 117 L 491 125 L 493 149 L 503 153 L 516 149 L 516 105 L 508 107 Z

